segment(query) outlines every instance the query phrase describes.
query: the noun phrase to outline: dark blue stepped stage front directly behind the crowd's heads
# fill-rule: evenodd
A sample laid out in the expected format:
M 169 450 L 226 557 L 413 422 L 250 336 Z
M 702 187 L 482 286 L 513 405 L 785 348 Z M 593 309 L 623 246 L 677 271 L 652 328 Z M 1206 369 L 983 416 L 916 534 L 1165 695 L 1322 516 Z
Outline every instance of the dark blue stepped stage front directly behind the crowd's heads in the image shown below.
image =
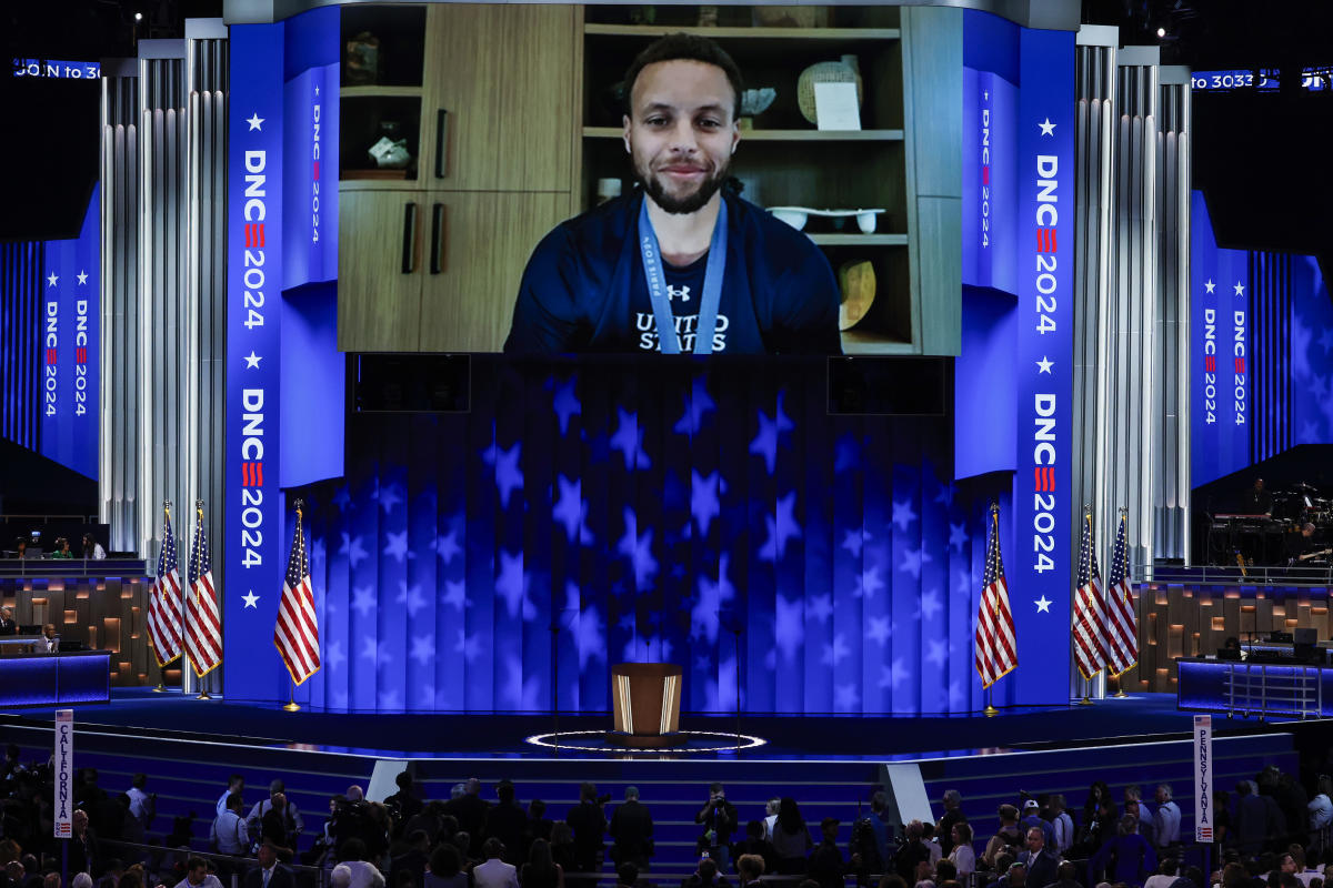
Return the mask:
M 328 799 L 357 783 L 369 785 L 376 759 L 337 750 L 311 750 L 300 746 L 247 746 L 237 742 L 208 742 L 189 738 L 145 738 L 128 730 L 80 731 L 76 735 L 76 767 L 95 767 L 99 783 L 108 792 L 121 792 L 137 771 L 149 775 L 149 791 L 159 796 L 155 832 L 171 829 L 172 817 L 193 813 L 195 847 L 207 845 L 213 805 L 231 772 L 245 775 L 247 807 L 264 797 L 268 783 L 281 776 L 288 796 L 305 817 L 301 848 L 313 841 L 328 816 Z M 7 742 L 19 743 L 25 762 L 49 755 L 51 730 L 5 726 Z M 1297 756 L 1289 734 L 1225 736 L 1214 739 L 1216 787 L 1230 789 L 1237 779 L 1253 777 L 1266 764 L 1297 771 Z M 385 759 L 396 756 L 385 755 Z M 888 759 L 886 759 L 888 760 Z M 997 751 L 990 755 L 922 756 L 916 760 L 933 813 L 942 812 L 945 789 L 962 793 L 964 812 L 977 831 L 977 847 L 996 828 L 996 808 L 1017 803 L 1018 791 L 1064 792 L 1070 811 L 1081 815 L 1088 785 L 1102 779 L 1120 799 L 1129 783 L 1144 787 L 1150 796 L 1160 781 L 1172 783 L 1185 812 L 1182 832 L 1192 829 L 1190 789 L 1192 747 L 1188 739 L 1154 743 L 1116 743 L 1082 748 Z M 612 796 L 608 815 L 624 797 L 627 785 L 640 789 L 641 800 L 656 821 L 657 856 L 653 876 L 674 884 L 693 871 L 694 843 L 701 828 L 694 815 L 713 780 L 726 787 L 737 807 L 741 829 L 745 821 L 761 819 L 769 797 L 794 797 L 817 833 L 825 816 L 842 821 L 840 843 L 850 836 L 852 820 L 868 811 L 870 793 L 880 785 L 880 763 L 826 759 L 529 759 L 529 758 L 449 758 L 413 759 L 424 796 L 448 799 L 456 783 L 476 776 L 483 796 L 495 799 L 495 787 L 512 780 L 517 797 L 527 804 L 535 797 L 547 801 L 547 816 L 563 819 L 579 800 L 579 784 L 591 780 L 601 793 Z M 902 762 L 897 762 L 902 764 Z M 607 863 L 605 873 L 611 873 Z

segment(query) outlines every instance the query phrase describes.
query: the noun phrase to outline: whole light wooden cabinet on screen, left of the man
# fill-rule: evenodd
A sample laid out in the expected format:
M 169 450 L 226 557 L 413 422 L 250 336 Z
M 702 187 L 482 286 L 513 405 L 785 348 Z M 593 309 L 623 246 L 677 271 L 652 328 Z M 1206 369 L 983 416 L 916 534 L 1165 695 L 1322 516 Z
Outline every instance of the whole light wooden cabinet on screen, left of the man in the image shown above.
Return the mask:
M 581 8 L 359 4 L 343 16 L 344 43 L 383 33 L 385 61 L 420 61 L 388 84 L 344 83 L 339 347 L 497 351 L 532 249 L 575 212 Z M 408 141 L 408 169 L 365 169 L 367 145 L 348 144 L 387 122 Z

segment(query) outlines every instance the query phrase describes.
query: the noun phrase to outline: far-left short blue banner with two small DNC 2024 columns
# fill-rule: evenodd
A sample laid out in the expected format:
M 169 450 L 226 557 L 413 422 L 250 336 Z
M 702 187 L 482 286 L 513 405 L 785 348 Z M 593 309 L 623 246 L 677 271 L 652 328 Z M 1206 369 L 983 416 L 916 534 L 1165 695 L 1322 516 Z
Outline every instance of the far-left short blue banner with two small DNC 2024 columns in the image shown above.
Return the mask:
M 97 477 L 99 245 L 93 188 L 79 237 L 47 241 L 41 285 L 41 455 Z

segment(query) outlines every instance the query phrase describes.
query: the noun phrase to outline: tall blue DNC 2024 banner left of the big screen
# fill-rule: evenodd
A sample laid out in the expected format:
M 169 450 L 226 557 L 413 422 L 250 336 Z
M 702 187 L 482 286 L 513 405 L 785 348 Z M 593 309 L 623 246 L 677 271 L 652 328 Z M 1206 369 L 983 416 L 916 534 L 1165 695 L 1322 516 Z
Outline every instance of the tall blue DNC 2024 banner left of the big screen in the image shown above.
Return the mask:
M 232 25 L 227 228 L 224 694 L 276 699 L 283 588 L 280 341 L 284 25 Z M 257 651 L 264 651 L 256 655 Z

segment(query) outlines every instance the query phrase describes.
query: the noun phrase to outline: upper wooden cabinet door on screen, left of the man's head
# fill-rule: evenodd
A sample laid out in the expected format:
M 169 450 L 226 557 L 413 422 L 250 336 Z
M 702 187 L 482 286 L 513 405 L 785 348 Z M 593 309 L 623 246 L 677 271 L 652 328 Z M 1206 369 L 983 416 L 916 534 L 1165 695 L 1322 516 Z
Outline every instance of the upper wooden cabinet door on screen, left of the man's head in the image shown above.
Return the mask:
M 572 190 L 581 132 L 575 7 L 440 3 L 428 21 L 423 181 Z

